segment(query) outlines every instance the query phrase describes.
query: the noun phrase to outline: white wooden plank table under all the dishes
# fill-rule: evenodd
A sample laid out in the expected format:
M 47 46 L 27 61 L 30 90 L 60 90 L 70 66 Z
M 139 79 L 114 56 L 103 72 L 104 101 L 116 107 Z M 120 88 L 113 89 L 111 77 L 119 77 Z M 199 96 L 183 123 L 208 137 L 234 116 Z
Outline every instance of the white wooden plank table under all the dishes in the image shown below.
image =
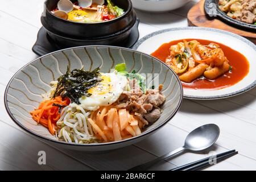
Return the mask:
M 189 131 L 206 123 L 216 123 L 221 129 L 220 138 L 212 148 L 213 151 L 236 149 L 240 153 L 206 170 L 256 169 L 256 89 L 241 96 L 218 101 L 184 100 L 179 113 L 158 133 L 133 146 L 104 154 L 86 154 L 54 148 L 24 133 L 7 115 L 3 94 L 11 76 L 37 57 L 31 48 L 42 26 L 40 14 L 43 2 L 44 0 L 1 1 L 0 170 L 126 170 L 182 146 Z M 141 19 L 141 38 L 160 29 L 188 26 L 187 12 L 196 2 L 194 0 L 179 10 L 164 14 L 137 11 L 138 18 Z M 38 164 L 39 151 L 46 151 L 46 165 Z M 179 155 L 169 163 L 163 163 L 159 169 L 170 169 L 208 155 Z

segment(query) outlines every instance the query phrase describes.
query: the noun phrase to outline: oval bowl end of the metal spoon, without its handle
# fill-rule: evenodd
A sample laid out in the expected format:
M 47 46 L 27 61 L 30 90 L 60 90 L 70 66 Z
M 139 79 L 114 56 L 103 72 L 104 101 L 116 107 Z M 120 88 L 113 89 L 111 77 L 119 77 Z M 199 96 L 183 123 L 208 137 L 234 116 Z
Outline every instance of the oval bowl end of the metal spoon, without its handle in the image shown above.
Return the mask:
M 184 148 L 190 151 L 203 151 L 211 147 L 220 136 L 220 128 L 214 124 L 198 127 L 185 139 Z

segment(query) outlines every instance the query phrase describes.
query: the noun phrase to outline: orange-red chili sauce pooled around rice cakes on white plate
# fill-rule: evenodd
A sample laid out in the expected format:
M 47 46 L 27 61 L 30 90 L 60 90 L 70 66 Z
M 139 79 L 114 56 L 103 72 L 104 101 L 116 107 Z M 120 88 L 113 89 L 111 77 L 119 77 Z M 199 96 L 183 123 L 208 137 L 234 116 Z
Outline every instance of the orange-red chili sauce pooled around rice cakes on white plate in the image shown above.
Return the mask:
M 202 76 L 200 78 L 197 78 L 191 83 L 182 82 L 182 85 L 184 88 L 210 89 L 210 90 L 223 89 L 241 81 L 249 72 L 249 67 L 250 67 L 249 61 L 240 52 L 237 52 L 234 49 L 228 46 L 225 46 L 224 44 L 213 42 L 210 40 L 201 40 L 201 39 L 185 39 L 185 40 L 187 40 L 187 42 L 191 40 L 197 40 L 202 45 L 208 45 L 210 43 L 218 44 L 220 48 L 224 51 L 224 55 L 229 60 L 229 64 L 232 66 L 232 71 L 226 72 L 224 75 L 216 78 L 215 80 L 208 80 L 207 78 Z M 165 62 L 166 58 L 170 55 L 170 47 L 179 42 L 183 42 L 183 39 L 175 40 L 170 43 L 165 43 L 162 46 L 160 46 L 151 55 Z

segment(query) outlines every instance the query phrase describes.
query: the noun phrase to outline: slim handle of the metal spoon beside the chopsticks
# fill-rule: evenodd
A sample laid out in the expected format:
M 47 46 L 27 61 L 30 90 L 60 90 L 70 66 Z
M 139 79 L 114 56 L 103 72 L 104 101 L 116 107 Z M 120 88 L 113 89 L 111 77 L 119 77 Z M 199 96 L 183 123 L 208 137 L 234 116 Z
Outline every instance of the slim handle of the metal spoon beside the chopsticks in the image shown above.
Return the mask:
M 154 164 L 160 162 L 161 160 L 164 160 L 164 159 L 168 159 L 170 158 L 171 156 L 181 152 L 181 151 L 184 151 L 185 148 L 184 147 L 180 147 L 180 148 L 177 148 L 176 150 L 172 151 L 172 152 L 169 152 L 168 154 L 165 154 L 163 156 L 160 156 L 159 158 L 156 158 L 154 160 L 151 160 L 150 162 L 147 162 L 147 163 L 144 163 L 144 164 L 141 164 L 139 166 L 135 166 L 131 169 L 129 169 L 128 171 L 144 171 L 144 170 L 147 170 L 148 168 L 154 166 Z

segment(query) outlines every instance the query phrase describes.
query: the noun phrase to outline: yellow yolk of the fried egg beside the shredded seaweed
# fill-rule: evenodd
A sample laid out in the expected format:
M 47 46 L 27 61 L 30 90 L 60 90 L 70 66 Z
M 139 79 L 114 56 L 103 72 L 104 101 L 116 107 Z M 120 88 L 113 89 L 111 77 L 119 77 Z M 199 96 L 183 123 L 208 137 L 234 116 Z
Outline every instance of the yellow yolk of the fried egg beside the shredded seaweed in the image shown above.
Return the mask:
M 101 76 L 102 80 L 96 86 L 88 90 L 88 93 L 94 95 L 103 95 L 112 91 L 111 80 L 108 76 Z

